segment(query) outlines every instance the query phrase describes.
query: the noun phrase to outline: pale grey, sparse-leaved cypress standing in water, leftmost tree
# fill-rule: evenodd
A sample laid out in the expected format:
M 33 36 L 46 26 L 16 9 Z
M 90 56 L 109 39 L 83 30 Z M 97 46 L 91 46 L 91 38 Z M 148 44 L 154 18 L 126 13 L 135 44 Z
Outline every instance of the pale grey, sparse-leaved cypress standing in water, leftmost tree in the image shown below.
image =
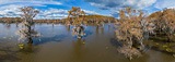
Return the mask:
M 21 18 L 22 21 L 22 28 L 18 30 L 18 35 L 20 35 L 19 40 L 27 41 L 28 44 L 33 44 L 32 37 L 39 36 L 39 34 L 32 28 L 34 25 L 33 18 L 36 16 L 39 11 L 35 10 L 32 7 L 24 7 L 20 9 L 22 12 Z M 23 45 L 21 45 L 23 46 Z

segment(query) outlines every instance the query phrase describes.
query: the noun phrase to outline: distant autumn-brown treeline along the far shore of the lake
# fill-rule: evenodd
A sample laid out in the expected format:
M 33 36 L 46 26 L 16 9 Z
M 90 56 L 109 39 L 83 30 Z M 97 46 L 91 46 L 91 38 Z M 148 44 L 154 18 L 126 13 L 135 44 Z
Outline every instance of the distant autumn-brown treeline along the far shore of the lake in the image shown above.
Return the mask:
M 104 15 L 85 15 L 79 16 L 80 20 L 88 22 L 88 23 L 95 23 L 95 22 L 110 22 L 114 23 L 116 18 L 112 16 L 104 16 Z M 21 17 L 0 17 L 0 23 L 21 23 L 23 20 Z M 73 17 L 70 18 L 62 18 L 62 20 L 34 20 L 35 23 L 66 23 L 67 21 L 72 22 Z

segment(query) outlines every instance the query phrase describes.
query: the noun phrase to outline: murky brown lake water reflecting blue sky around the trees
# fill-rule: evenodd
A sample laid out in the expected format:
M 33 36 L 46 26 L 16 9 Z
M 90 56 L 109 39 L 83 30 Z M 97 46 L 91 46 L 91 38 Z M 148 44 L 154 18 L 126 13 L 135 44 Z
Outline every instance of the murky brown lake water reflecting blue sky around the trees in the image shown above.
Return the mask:
M 0 62 L 175 62 L 175 58 L 155 50 L 147 50 L 142 57 L 126 59 L 116 50 L 115 28 L 85 26 L 86 36 L 77 39 L 71 28 L 60 24 L 36 24 L 43 36 L 34 38 L 25 49 L 18 47 L 15 24 L 0 24 Z

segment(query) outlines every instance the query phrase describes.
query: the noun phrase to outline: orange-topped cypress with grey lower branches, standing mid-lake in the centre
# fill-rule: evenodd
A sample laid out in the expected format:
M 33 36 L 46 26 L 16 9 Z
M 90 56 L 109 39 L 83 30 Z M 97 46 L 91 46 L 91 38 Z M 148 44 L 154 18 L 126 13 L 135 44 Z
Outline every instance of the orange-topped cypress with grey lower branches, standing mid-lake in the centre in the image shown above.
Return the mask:
M 82 36 L 84 35 L 84 27 L 82 26 L 84 15 L 84 11 L 77 7 L 72 7 L 72 9 L 68 11 L 68 21 L 66 24 L 68 24 L 69 26 L 74 25 L 72 35 L 75 35 L 78 38 L 82 38 Z

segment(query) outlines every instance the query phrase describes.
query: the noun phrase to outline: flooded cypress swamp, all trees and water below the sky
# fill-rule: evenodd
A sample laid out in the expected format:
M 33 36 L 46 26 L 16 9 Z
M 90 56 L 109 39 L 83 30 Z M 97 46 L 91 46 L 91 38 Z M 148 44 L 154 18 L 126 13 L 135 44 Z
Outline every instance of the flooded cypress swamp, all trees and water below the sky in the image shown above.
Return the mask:
M 19 10 L 19 17 L 0 17 L 0 62 L 175 62 L 175 9 L 126 7 L 114 17 L 71 7 L 60 20 Z

